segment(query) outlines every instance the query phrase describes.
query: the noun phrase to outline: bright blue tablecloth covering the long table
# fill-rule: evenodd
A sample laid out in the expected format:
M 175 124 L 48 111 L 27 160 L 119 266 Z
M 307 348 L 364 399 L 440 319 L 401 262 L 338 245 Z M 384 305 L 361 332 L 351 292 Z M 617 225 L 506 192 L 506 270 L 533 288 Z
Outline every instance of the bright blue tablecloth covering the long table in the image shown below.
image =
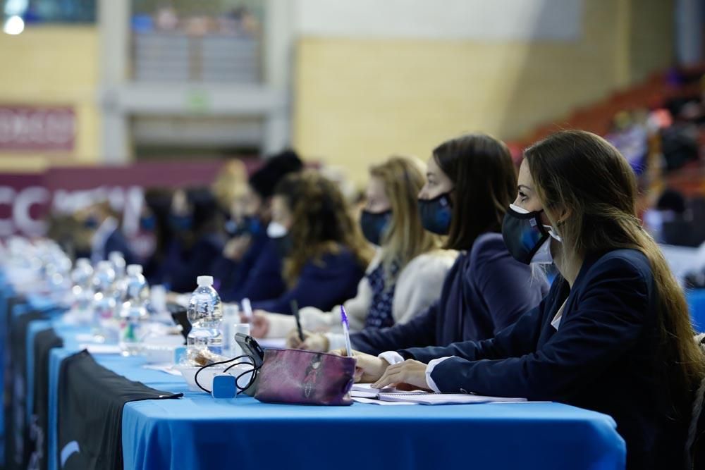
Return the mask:
M 44 323 L 39 323 L 44 322 Z M 54 318 L 32 322 L 27 340 L 51 326 L 64 346 L 49 363 L 49 469 L 60 469 L 57 390 L 63 359 L 85 328 Z M 27 347 L 27 350 L 31 350 Z M 29 352 L 27 354 L 30 354 Z M 311 407 L 216 400 L 180 377 L 145 369 L 141 357 L 96 355 L 99 364 L 179 400 L 123 407 L 125 469 L 623 469 L 625 443 L 611 417 L 559 403 L 441 407 Z M 27 357 L 30 367 L 31 357 Z M 29 374 L 28 374 L 29 376 Z M 87 390 L 117 393 L 118 390 Z M 80 444 L 80 443 L 79 443 Z

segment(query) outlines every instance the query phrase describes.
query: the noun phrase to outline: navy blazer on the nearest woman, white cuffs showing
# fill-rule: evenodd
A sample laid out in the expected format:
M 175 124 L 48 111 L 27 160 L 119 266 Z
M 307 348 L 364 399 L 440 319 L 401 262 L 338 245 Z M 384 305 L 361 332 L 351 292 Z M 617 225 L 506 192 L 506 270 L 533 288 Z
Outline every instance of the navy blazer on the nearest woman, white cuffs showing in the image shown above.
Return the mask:
M 627 443 L 628 468 L 681 468 L 689 403 L 668 396 L 675 364 L 661 359 L 656 295 L 646 256 L 618 249 L 589 256 L 572 289 L 557 278 L 539 307 L 493 339 L 400 354 L 422 362 L 452 356 L 431 373 L 442 392 L 552 400 L 609 414 Z M 556 330 L 551 321 L 564 300 Z

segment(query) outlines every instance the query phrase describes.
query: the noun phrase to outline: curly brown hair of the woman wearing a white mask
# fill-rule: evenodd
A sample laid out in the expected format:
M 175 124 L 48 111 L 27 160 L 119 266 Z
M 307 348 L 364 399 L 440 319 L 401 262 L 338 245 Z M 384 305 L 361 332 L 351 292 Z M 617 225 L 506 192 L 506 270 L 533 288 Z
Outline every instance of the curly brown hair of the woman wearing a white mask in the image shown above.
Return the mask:
M 290 173 L 274 189 L 283 197 L 294 221 L 289 230 L 293 249 L 284 261 L 283 277 L 293 285 L 309 261 L 347 248 L 364 269 L 372 248 L 353 220 L 338 186 L 315 170 Z

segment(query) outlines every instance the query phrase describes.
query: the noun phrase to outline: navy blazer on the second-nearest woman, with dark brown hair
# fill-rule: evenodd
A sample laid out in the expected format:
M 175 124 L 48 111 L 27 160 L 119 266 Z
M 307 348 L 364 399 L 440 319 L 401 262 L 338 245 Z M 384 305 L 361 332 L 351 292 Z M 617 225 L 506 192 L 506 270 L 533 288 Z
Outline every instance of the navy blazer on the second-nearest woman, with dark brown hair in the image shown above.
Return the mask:
M 543 278 L 507 251 L 500 233 L 485 233 L 450 268 L 440 298 L 407 323 L 364 328 L 350 335 L 355 350 L 367 354 L 405 347 L 446 346 L 493 338 L 548 292 Z

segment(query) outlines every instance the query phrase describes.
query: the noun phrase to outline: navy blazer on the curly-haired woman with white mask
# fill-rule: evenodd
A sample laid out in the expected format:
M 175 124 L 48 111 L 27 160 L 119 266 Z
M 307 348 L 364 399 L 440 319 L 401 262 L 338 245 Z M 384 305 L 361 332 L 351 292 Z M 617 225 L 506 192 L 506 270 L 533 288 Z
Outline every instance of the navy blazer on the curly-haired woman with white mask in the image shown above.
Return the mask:
M 342 247 L 337 253 L 324 254 L 320 260 L 307 262 L 290 290 L 274 299 L 252 302 L 252 308 L 291 314 L 290 302 L 296 299 L 301 308 L 329 311 L 355 297 L 362 276 L 364 267 L 360 266 L 360 261 L 350 249 Z

